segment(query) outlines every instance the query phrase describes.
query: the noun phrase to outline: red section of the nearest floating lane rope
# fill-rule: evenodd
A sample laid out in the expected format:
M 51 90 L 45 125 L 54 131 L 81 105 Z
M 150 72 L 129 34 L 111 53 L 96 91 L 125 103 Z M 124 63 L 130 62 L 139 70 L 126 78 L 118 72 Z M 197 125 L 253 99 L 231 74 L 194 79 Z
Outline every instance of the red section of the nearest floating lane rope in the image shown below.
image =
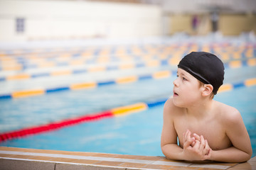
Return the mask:
M 0 142 L 3 142 L 5 140 L 12 140 L 15 138 L 25 137 L 27 135 L 35 135 L 41 132 L 46 132 L 50 130 L 56 130 L 59 128 L 63 128 L 66 126 L 75 125 L 78 123 L 86 123 L 90 121 L 100 120 L 102 118 L 108 118 L 113 117 L 112 111 L 104 111 L 100 113 L 95 113 L 92 115 L 84 115 L 79 118 L 69 119 L 69 120 L 62 120 L 57 123 L 49 123 L 46 125 L 40 125 L 38 127 L 31 127 L 31 128 L 24 128 L 21 130 L 14 130 L 12 132 L 5 132 L 0 134 Z

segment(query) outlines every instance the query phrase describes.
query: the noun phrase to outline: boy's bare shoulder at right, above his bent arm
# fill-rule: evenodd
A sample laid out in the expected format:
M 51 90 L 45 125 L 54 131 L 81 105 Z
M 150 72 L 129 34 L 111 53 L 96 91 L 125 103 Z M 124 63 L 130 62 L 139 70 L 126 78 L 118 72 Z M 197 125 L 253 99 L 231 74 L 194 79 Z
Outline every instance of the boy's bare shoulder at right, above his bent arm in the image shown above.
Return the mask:
M 228 106 L 225 103 L 216 101 L 216 108 L 218 111 L 219 118 L 223 120 L 225 124 L 238 123 L 242 120 L 241 114 L 238 109 Z

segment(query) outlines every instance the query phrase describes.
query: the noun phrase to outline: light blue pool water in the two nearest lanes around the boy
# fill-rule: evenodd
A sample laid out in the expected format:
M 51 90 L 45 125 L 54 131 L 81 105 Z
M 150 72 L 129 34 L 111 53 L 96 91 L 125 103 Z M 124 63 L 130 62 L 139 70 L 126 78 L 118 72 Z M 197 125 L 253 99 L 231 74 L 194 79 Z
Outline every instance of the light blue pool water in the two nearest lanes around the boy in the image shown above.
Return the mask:
M 256 67 L 226 69 L 225 83 L 255 77 Z M 41 125 L 87 113 L 105 111 L 140 101 L 171 96 L 176 77 L 137 81 L 82 91 L 65 91 L 31 98 L 0 100 L 1 131 Z M 215 96 L 238 108 L 249 132 L 253 156 L 256 148 L 256 86 L 241 87 Z M 43 104 L 42 104 L 43 103 Z M 59 149 L 116 154 L 162 155 L 160 136 L 163 105 L 146 111 L 82 123 L 52 132 L 1 142 L 0 146 Z M 10 124 L 10 125 L 9 125 Z

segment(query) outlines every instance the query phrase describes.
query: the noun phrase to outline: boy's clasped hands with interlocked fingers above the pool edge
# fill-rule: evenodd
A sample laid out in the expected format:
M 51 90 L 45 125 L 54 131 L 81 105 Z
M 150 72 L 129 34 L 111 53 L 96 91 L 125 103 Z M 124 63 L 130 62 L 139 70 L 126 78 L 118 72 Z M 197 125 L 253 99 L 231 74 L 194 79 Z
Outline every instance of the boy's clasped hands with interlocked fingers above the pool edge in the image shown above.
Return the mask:
M 199 136 L 194 133 L 191 137 L 191 131 L 189 130 L 183 133 L 183 154 L 186 160 L 203 161 L 210 159 L 211 153 L 212 149 L 210 149 L 203 135 Z

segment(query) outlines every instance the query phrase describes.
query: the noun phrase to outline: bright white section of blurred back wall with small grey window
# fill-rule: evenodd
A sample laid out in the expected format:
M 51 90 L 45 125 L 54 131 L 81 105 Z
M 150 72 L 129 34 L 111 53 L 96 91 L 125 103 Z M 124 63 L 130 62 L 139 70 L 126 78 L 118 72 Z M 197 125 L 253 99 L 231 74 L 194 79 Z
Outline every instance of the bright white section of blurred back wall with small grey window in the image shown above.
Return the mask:
M 98 1 L 0 0 L 0 40 L 159 35 L 161 8 Z

